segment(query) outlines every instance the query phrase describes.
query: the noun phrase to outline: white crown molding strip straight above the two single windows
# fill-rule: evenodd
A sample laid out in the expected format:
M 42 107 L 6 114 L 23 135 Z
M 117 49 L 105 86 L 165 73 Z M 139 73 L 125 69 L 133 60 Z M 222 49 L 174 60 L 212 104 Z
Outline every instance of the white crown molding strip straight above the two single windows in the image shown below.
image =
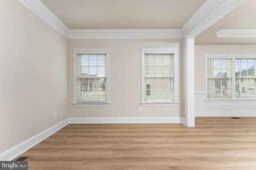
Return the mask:
M 70 29 L 68 39 L 181 39 L 180 29 Z

